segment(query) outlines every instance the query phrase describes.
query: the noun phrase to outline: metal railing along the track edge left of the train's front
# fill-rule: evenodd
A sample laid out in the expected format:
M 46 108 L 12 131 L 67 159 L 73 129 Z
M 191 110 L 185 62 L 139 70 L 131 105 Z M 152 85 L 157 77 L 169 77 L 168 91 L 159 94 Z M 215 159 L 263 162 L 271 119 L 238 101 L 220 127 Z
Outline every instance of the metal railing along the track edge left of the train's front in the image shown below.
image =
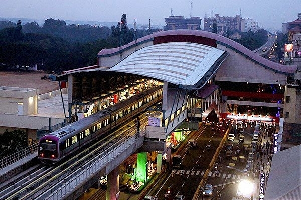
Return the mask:
M 0 169 L 3 169 L 4 167 L 6 167 L 14 162 L 17 162 L 20 159 L 38 151 L 38 146 L 39 146 L 39 142 L 37 142 L 31 146 L 28 146 L 12 155 L 9 155 L 9 156 L 3 158 L 2 160 L 0 160 Z

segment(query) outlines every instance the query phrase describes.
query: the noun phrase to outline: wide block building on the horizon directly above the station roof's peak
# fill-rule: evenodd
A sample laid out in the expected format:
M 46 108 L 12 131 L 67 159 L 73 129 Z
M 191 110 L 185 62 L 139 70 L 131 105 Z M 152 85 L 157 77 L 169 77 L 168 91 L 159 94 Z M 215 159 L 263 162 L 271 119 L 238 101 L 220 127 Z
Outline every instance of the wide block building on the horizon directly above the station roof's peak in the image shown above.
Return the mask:
M 164 30 L 200 30 L 201 29 L 201 17 L 191 16 L 190 18 L 184 18 L 184 16 L 169 16 L 165 18 L 166 26 Z

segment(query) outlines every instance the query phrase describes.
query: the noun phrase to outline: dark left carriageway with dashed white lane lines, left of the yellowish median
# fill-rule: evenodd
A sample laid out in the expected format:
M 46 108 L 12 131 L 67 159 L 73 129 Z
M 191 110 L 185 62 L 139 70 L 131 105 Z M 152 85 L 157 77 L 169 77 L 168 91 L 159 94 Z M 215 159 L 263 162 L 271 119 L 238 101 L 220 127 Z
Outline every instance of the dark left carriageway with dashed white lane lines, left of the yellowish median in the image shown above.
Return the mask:
M 193 199 L 224 134 L 224 132 L 217 131 L 216 128 L 212 129 L 212 126 L 206 126 L 201 132 L 198 132 L 195 138 L 197 147 L 189 149 L 189 152 L 183 155 L 181 169 L 184 174 L 181 175 L 180 170 L 175 170 L 174 175 L 170 173 L 164 184 L 154 190 L 153 195 L 158 196 L 159 199 L 164 199 L 164 194 L 170 186 L 171 194 L 168 199 L 173 199 L 176 194 L 182 194 L 186 199 Z M 207 145 L 211 145 L 210 149 L 206 148 Z

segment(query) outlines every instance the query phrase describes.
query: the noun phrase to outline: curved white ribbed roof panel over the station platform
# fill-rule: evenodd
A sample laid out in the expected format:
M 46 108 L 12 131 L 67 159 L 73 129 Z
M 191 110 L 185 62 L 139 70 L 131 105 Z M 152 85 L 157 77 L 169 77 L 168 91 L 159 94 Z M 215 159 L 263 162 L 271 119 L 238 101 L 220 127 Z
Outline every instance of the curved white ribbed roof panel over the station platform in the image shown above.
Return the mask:
M 197 43 L 162 43 L 132 53 L 108 71 L 152 77 L 176 85 L 195 85 L 224 53 Z

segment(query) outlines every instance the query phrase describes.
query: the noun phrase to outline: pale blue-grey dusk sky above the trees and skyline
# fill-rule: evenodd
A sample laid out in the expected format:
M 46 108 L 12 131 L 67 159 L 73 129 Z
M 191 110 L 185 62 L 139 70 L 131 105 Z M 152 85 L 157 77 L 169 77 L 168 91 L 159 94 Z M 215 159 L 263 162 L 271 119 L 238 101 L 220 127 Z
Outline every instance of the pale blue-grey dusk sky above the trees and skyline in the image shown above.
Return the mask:
M 251 18 L 266 30 L 282 30 L 282 23 L 297 19 L 300 0 L 0 0 L 0 17 L 36 20 L 93 20 L 118 22 L 126 14 L 128 24 L 165 25 L 165 17 L 236 16 Z M 39 24 L 42 26 L 43 24 Z

